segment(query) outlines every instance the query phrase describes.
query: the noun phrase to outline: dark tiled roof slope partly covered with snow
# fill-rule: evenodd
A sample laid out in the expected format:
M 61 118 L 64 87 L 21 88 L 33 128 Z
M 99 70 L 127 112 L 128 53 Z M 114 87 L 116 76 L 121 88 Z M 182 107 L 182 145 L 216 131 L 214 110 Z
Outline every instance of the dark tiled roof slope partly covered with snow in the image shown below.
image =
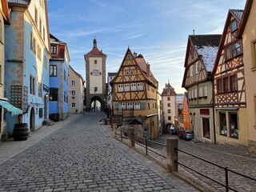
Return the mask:
M 190 40 L 198 56 L 202 57 L 202 62 L 207 72 L 211 72 L 214 68 L 221 38 L 221 34 L 190 35 Z

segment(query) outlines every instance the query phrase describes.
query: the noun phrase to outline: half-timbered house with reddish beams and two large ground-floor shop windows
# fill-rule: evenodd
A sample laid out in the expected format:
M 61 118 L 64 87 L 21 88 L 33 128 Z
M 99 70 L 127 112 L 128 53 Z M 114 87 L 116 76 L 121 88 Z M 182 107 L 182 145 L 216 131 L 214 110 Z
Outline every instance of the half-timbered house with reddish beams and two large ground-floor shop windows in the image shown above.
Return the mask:
M 246 86 L 242 39 L 238 39 L 243 10 L 229 10 L 214 64 L 216 142 L 248 145 Z

